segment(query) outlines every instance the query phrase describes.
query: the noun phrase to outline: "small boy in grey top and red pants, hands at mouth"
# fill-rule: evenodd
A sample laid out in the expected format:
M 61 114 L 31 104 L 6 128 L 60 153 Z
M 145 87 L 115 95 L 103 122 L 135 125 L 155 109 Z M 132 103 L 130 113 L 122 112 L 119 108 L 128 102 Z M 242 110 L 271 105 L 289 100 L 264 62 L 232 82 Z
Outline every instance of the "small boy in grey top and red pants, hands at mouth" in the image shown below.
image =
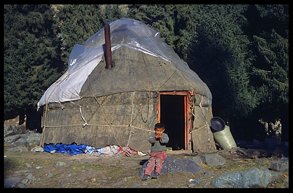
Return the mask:
M 160 175 L 163 162 L 167 156 L 166 144 L 169 141 L 168 135 L 163 133 L 165 125 L 157 123 L 155 125 L 155 133 L 151 134 L 149 142 L 152 144 L 149 163 L 145 168 L 144 175 L 141 180 L 147 180 L 151 177 L 151 173 L 156 166 L 156 170 L 152 178 L 156 179 Z

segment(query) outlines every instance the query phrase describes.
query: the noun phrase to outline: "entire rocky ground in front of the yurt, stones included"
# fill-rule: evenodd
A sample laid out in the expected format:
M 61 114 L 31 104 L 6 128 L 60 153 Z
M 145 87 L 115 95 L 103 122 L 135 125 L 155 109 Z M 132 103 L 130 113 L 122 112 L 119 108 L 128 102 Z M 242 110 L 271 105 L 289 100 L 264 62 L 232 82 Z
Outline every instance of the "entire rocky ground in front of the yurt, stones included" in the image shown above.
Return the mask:
M 288 144 L 275 140 L 205 153 L 169 151 L 159 178 L 141 181 L 148 155 L 34 152 L 41 134 L 20 131 L 5 124 L 5 188 L 288 188 Z

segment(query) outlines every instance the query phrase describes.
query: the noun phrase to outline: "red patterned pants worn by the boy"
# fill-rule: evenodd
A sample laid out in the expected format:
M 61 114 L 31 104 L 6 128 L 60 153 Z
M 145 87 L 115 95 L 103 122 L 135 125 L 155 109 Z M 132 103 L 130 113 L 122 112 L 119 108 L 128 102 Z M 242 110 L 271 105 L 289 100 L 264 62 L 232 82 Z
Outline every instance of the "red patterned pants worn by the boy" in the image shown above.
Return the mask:
M 150 176 L 152 171 L 154 170 L 155 166 L 156 166 L 155 171 L 158 174 L 160 174 L 166 156 L 167 156 L 166 151 L 159 151 L 159 152 L 150 153 L 149 163 L 148 163 L 147 167 L 145 168 L 144 174 Z

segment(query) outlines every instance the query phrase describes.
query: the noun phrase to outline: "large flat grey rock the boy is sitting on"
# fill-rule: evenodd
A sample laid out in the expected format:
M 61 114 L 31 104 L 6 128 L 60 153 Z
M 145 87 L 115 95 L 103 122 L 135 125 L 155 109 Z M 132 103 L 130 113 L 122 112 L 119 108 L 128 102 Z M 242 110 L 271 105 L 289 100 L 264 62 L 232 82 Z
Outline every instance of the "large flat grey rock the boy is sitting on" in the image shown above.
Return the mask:
M 139 176 L 142 177 L 145 171 L 145 167 L 147 167 L 148 162 L 145 162 L 139 171 Z M 163 163 L 163 167 L 160 174 L 167 173 L 191 173 L 195 174 L 198 172 L 204 171 L 203 168 L 199 167 L 195 162 L 183 159 L 183 158 L 173 158 L 167 156 Z M 154 174 L 155 171 L 152 172 L 151 175 Z

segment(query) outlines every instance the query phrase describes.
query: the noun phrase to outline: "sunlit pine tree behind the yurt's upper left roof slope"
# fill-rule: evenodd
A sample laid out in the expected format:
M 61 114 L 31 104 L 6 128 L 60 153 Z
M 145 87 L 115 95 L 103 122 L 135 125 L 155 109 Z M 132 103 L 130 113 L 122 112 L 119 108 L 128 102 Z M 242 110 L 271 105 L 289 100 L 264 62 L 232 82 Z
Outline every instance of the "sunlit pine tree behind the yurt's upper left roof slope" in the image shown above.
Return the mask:
M 60 28 L 61 57 L 68 67 L 70 52 L 75 44 L 82 45 L 103 27 L 100 5 L 63 5 L 57 7 Z

